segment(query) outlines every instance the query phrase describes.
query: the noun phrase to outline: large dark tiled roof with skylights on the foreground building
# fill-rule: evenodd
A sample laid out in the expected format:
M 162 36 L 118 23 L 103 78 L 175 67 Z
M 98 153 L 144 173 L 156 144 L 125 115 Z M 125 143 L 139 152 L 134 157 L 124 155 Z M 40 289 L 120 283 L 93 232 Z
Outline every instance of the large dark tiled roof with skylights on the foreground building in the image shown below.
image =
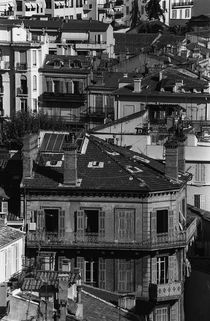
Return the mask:
M 46 167 L 52 159 L 51 154 L 40 153 L 34 168 L 34 177 L 24 180 L 24 186 L 36 190 L 82 190 L 135 192 L 145 194 L 159 190 L 179 188 L 186 177 L 179 176 L 180 181 L 168 179 L 164 165 L 144 154 L 138 154 L 123 147 L 111 145 L 94 136 L 86 136 L 86 151 L 78 154 L 78 178 L 80 186 L 63 186 L 63 154 L 57 154 L 58 166 Z M 92 162 L 102 166 L 91 167 Z

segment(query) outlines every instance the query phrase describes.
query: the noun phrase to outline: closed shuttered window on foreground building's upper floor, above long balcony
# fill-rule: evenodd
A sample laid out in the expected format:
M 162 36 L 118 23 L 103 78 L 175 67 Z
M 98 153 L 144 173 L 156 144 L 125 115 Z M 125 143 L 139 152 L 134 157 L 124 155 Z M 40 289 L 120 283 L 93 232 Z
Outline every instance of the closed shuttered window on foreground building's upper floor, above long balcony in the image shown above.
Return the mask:
M 115 239 L 118 241 L 135 240 L 134 209 L 115 209 Z

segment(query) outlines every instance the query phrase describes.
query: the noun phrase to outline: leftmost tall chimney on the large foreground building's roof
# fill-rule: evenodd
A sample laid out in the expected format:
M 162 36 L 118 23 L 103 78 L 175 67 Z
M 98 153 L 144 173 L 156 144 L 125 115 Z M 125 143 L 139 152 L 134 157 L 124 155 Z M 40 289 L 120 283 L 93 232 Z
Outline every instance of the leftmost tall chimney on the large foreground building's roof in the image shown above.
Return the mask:
M 27 134 L 23 137 L 23 178 L 32 177 L 33 163 L 38 154 L 38 134 Z

